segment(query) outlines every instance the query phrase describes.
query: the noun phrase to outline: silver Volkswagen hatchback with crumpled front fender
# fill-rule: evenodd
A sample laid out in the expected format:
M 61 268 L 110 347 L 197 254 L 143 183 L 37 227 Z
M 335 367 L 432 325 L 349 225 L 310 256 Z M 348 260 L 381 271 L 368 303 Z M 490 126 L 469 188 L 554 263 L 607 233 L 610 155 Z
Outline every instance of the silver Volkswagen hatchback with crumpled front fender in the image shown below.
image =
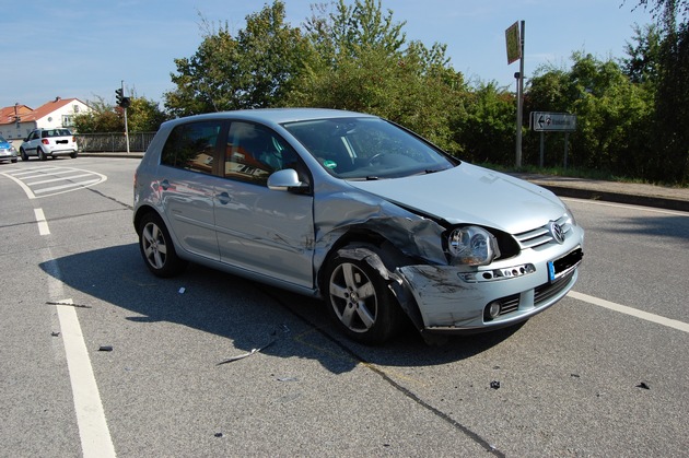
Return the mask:
M 255 109 L 161 126 L 135 179 L 147 267 L 187 261 L 322 297 L 379 343 L 522 322 L 574 285 L 584 231 L 550 191 L 375 116 Z

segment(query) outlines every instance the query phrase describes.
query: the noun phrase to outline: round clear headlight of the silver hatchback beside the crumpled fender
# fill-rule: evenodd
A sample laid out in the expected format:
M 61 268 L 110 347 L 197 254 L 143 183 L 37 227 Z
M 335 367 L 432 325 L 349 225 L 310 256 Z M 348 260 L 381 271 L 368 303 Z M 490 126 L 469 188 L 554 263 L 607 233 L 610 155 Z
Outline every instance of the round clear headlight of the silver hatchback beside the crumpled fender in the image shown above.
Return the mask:
M 495 237 L 478 226 L 452 231 L 447 237 L 447 250 L 453 263 L 465 266 L 487 266 L 500 256 Z

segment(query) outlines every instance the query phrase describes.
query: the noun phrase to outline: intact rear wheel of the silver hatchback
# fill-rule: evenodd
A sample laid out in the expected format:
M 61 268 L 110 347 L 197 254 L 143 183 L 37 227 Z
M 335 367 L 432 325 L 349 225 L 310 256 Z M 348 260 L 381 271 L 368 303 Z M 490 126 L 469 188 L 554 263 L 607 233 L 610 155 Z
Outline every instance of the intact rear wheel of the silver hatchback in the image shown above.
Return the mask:
M 149 213 L 141 219 L 139 248 L 145 267 L 156 277 L 174 277 L 187 265 L 177 257 L 170 232 L 163 220 L 155 213 Z

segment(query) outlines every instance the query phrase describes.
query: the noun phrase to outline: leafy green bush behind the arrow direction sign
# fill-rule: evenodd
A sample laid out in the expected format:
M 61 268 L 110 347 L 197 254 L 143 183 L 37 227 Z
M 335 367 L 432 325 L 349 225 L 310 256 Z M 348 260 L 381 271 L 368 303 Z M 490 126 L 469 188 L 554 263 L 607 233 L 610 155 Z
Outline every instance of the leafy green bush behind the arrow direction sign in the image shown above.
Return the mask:
M 647 136 L 652 96 L 632 83 L 612 59 L 581 51 L 572 55 L 569 71 L 541 68 L 530 82 L 526 111 L 561 111 L 577 116 L 570 136 L 570 162 L 642 176 L 649 171 Z M 548 134 L 548 151 L 562 151 L 560 134 Z M 532 157 L 538 136 L 528 136 Z M 557 145 L 557 144 L 560 145 Z

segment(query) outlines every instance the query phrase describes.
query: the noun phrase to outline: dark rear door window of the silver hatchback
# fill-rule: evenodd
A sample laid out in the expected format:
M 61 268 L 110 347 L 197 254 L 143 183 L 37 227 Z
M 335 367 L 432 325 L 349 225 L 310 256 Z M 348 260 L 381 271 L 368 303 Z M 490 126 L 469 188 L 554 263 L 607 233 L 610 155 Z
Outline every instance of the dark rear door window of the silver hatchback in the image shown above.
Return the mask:
M 211 175 L 221 125 L 199 121 L 175 127 L 163 146 L 161 164 Z

